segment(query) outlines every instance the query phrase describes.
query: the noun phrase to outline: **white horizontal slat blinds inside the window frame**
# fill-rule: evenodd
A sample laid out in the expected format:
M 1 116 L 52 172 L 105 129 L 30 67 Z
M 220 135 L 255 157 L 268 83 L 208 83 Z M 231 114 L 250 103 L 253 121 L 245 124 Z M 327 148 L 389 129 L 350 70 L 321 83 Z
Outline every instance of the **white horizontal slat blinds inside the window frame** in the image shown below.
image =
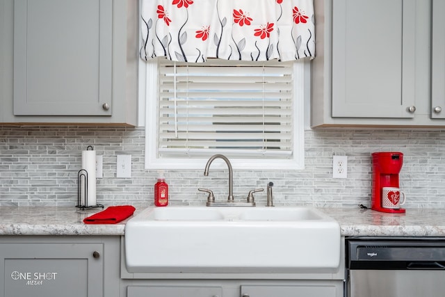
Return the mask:
M 159 61 L 158 70 L 158 158 L 293 158 L 293 62 Z

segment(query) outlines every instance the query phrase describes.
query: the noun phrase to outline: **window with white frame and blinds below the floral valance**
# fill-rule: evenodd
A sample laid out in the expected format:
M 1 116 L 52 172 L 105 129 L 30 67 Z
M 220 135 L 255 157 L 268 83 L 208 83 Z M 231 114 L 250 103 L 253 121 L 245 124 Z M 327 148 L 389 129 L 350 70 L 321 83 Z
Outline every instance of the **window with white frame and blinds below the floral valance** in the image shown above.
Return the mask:
M 305 62 L 144 62 L 146 168 L 302 169 Z

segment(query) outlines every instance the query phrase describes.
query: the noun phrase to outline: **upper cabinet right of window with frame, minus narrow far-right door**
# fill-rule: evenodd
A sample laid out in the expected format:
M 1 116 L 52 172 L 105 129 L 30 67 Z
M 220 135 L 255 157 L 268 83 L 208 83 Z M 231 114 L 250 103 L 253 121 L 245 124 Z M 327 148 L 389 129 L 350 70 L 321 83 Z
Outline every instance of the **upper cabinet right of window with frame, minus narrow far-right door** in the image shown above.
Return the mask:
M 430 1 L 314 6 L 313 127 L 445 125 L 430 118 Z

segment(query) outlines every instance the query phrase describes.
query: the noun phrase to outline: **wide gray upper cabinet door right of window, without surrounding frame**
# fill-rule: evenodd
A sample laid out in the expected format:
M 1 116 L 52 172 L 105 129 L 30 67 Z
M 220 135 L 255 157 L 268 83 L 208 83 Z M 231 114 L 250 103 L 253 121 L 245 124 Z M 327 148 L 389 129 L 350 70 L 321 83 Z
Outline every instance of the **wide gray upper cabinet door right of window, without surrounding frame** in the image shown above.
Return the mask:
M 413 117 L 415 4 L 332 2 L 332 117 Z

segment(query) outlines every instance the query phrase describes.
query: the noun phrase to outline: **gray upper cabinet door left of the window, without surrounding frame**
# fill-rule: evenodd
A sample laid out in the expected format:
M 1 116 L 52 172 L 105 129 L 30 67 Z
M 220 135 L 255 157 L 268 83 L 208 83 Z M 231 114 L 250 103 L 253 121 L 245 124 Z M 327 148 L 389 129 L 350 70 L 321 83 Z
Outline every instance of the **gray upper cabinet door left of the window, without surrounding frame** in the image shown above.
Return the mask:
M 111 115 L 112 17 L 110 0 L 15 0 L 14 115 Z

